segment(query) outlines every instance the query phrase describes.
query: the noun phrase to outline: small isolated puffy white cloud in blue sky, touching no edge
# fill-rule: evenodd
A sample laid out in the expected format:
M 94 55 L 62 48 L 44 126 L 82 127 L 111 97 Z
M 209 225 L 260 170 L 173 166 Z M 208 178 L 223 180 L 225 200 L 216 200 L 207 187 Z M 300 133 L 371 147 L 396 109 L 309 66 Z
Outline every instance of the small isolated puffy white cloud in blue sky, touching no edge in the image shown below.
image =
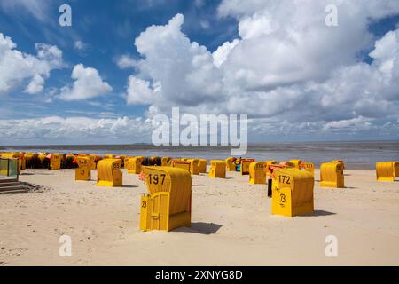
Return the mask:
M 113 90 L 108 83 L 103 81 L 95 68 L 84 67 L 82 64 L 75 65 L 71 77 L 74 79 L 72 87 L 62 87 L 59 99 L 92 99 Z

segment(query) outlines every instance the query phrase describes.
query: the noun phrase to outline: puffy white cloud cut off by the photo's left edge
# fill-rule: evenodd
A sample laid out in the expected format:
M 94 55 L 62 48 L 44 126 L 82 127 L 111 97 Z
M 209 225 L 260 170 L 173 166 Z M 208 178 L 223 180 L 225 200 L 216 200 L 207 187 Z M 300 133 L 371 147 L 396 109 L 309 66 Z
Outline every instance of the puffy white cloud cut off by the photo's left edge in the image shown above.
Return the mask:
M 17 44 L 0 33 L 0 94 L 26 83 L 25 92 L 42 92 L 51 70 L 63 67 L 62 51 L 57 46 L 36 43 L 35 50 L 35 56 L 18 51 Z

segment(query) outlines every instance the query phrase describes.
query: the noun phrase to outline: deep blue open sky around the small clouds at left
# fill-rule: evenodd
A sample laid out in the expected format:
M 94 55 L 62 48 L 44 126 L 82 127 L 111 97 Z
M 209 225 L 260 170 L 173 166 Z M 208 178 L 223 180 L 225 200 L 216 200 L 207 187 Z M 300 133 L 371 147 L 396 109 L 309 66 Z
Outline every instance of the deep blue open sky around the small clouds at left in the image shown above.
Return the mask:
M 3 104 L 14 110 L 10 114 L 0 114 L 0 119 L 29 118 L 43 114 L 71 116 L 71 111 L 84 112 L 89 116 L 98 116 L 98 112 L 142 115 L 145 106 L 127 106 L 121 100 L 131 70 L 121 70 L 115 64 L 115 59 L 121 54 L 139 58 L 133 45 L 134 39 L 145 28 L 165 24 L 178 12 L 184 13 L 190 19 L 184 24 L 184 33 L 190 35 L 193 41 L 214 51 L 220 44 L 237 37 L 236 20 L 215 17 L 218 3 L 207 1 L 204 5 L 197 6 L 190 1 L 174 0 L 98 1 L 96 4 L 91 1 L 48 1 L 43 5 L 45 9 L 42 11 L 45 20 L 29 12 L 24 6 L 0 10 L 1 32 L 11 36 L 20 51 L 34 54 L 35 43 L 57 45 L 63 51 L 69 67 L 84 62 L 85 66 L 98 69 L 100 75 L 113 86 L 112 95 L 95 99 L 101 107 L 91 106 L 93 101 L 76 104 L 54 100 L 48 105 L 43 102 L 43 96 L 29 97 L 22 93 L 21 87 L 6 97 L 0 97 Z M 70 4 L 72 7 L 72 27 L 59 26 L 61 4 Z M 209 28 L 200 27 L 198 21 L 207 21 Z M 74 48 L 76 41 L 86 44 L 83 51 Z M 70 77 L 71 68 L 55 70 L 46 83 L 46 88 L 60 88 L 71 82 Z M 21 104 L 27 108 L 21 110 Z

